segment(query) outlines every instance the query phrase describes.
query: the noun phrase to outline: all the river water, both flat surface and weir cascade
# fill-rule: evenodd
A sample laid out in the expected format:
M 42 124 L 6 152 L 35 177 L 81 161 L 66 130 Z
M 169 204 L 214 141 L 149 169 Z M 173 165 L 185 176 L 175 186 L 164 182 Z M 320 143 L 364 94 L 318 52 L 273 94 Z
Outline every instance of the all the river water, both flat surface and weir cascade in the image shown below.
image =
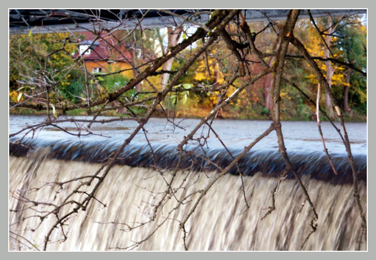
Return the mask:
M 83 118 L 83 117 L 79 117 Z M 42 117 L 10 116 L 10 133 L 20 130 L 25 123 L 33 124 Z M 47 250 L 117 250 L 123 249 L 149 237 L 134 250 L 184 250 L 183 233 L 179 229 L 182 220 L 192 208 L 203 189 L 218 172 L 199 157 L 185 156 L 174 183 L 185 189 L 178 190 L 177 198 L 190 193 L 191 202 L 179 205 L 177 199 L 171 199 L 164 205 L 163 212 L 146 225 L 128 231 L 130 227 L 149 220 L 153 207 L 166 189 L 164 178 L 156 174 L 153 167 L 172 168 L 177 162 L 176 145 L 184 135 L 190 133 L 199 120 L 189 119 L 181 122 L 185 128 L 173 127 L 163 119 L 151 119 L 145 129 L 153 147 L 155 158 L 147 145 L 143 133 L 126 146 L 122 159 L 112 168 L 102 183 L 96 198 L 86 211 L 80 211 L 66 223 L 64 232 L 67 240 L 62 243 L 61 230 L 55 229 Z M 36 212 L 28 209 L 28 203 L 22 203 L 13 194 L 22 193 L 32 201 L 53 202 L 58 204 L 76 186 L 71 182 L 64 190 L 46 185 L 53 181 L 66 181 L 80 176 L 90 175 L 100 167 L 111 152 L 115 151 L 124 139 L 133 131 L 136 122 L 113 122 L 110 125 L 93 124 L 92 132 L 103 136 L 74 137 L 56 128 L 45 127 L 42 131 L 28 135 L 22 142 L 30 148 L 13 142 L 22 135 L 11 138 L 10 143 L 10 236 L 12 232 L 22 235 L 35 247 L 42 249 L 44 237 L 53 225 L 53 216 L 45 219 L 41 226 L 39 218 L 29 217 Z M 236 156 L 242 148 L 270 125 L 268 121 L 215 120 L 213 128 L 229 150 Z M 72 123 L 60 126 L 74 132 Z M 346 151 L 339 135 L 332 126 L 323 122 L 326 145 L 333 157 L 338 176 L 330 169 L 328 159 L 323 152 L 321 139 L 315 122 L 283 122 L 283 133 L 287 152 L 295 169 L 302 176 L 308 193 L 318 213 L 318 227 L 308 239 L 304 250 L 355 250 L 361 230 L 358 209 L 352 195 L 351 171 Z M 360 171 L 360 193 L 362 205 L 366 209 L 366 124 L 348 123 L 347 129 L 351 141 L 356 167 Z M 200 129 L 198 136 L 206 134 L 208 128 Z M 108 137 L 105 137 L 108 136 Z M 32 138 L 31 138 L 32 137 Z M 205 150 L 191 143 L 186 147 L 198 154 L 205 154 L 220 166 L 225 166 L 231 157 L 224 150 L 213 133 L 208 139 Z M 197 160 L 200 167 L 194 171 L 183 171 L 186 166 Z M 240 171 L 246 175 L 244 180 L 247 209 L 243 197 L 241 179 L 237 169 L 220 178 L 205 194 L 198 208 L 186 224 L 186 246 L 189 250 L 298 250 L 309 234 L 308 223 L 312 212 L 308 203 L 304 203 L 302 190 L 293 176 L 284 179 L 275 194 L 276 209 L 265 219 L 262 216 L 271 206 L 271 191 L 284 170 L 276 142 L 275 133 L 257 143 L 238 163 Z M 202 168 L 205 171 L 200 171 Z M 232 173 L 232 174 L 231 174 Z M 39 188 L 41 189 L 33 189 Z M 93 184 L 88 187 L 92 188 Z M 18 192 L 18 193 L 17 193 Z M 76 199 L 84 195 L 75 195 Z M 102 203 L 106 205 L 103 206 Z M 177 210 L 174 210 L 179 207 Z M 39 211 L 47 206 L 38 205 Z M 20 211 L 21 210 L 21 211 Z M 68 212 L 68 207 L 62 210 Z M 171 212 L 171 213 L 170 213 Z M 169 214 L 170 213 L 170 214 Z M 159 225 L 163 223 L 159 227 Z M 129 226 L 127 226 L 127 225 Z M 158 228 L 157 228 L 158 227 Z M 32 229 L 32 230 L 30 230 Z M 34 230 L 35 229 L 35 230 Z M 22 240 L 21 242 L 28 244 Z M 28 250 L 25 245 L 11 238 L 10 250 Z M 32 247 L 34 250 L 35 248 Z M 361 250 L 366 250 L 363 242 Z

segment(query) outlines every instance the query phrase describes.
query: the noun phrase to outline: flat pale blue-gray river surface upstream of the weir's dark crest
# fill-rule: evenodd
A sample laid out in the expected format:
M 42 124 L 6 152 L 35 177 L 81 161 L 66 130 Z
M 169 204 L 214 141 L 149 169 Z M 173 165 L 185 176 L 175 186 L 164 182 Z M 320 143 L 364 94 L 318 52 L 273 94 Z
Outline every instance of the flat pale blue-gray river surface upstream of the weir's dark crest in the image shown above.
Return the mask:
M 79 116 L 77 119 L 90 119 L 90 117 Z M 36 124 L 41 122 L 44 116 L 18 116 L 10 115 L 9 118 L 9 132 L 15 133 L 22 129 L 25 124 Z M 109 119 L 109 117 L 102 117 L 99 119 Z M 163 144 L 178 144 L 185 135 L 199 123 L 199 119 L 176 119 L 175 123 L 179 123 L 184 129 L 174 127 L 165 119 L 152 118 L 145 126 L 147 137 L 151 143 Z M 270 121 L 250 121 L 250 120 L 222 120 L 216 119 L 213 122 L 215 132 L 220 136 L 225 145 L 232 148 L 242 148 L 253 141 L 258 135 L 265 131 L 270 125 Z M 64 133 L 60 129 L 52 126 L 44 127 L 41 131 L 37 131 L 34 138 L 42 138 L 49 140 L 77 140 L 77 141 L 123 141 L 125 140 L 137 126 L 137 122 L 127 120 L 121 122 L 111 122 L 107 124 L 93 124 L 90 131 L 98 135 L 82 136 L 80 138 L 71 136 Z M 335 123 L 340 127 L 339 123 Z M 87 123 L 84 124 L 85 126 Z M 67 129 L 69 132 L 77 133 L 74 131 L 76 126 L 73 123 L 61 123 L 59 126 Z M 351 149 L 353 154 L 367 153 L 367 124 L 366 123 L 346 123 L 347 132 L 351 142 Z M 322 129 L 326 145 L 329 153 L 345 153 L 345 147 L 339 134 L 335 131 L 334 127 L 329 122 L 322 122 Z M 282 122 L 282 130 L 285 138 L 287 151 L 294 152 L 322 152 L 323 143 L 317 131 L 317 123 L 309 121 L 285 121 Z M 208 126 L 201 127 L 195 137 L 201 134 L 208 133 Z M 85 132 L 83 132 L 85 134 Z M 31 136 L 29 134 L 28 136 Z M 21 137 L 21 135 L 18 135 Z M 277 137 L 274 132 L 261 140 L 254 146 L 254 150 L 277 150 Z M 145 136 L 140 131 L 132 143 L 146 143 Z M 209 147 L 221 147 L 220 142 L 211 133 L 209 138 Z

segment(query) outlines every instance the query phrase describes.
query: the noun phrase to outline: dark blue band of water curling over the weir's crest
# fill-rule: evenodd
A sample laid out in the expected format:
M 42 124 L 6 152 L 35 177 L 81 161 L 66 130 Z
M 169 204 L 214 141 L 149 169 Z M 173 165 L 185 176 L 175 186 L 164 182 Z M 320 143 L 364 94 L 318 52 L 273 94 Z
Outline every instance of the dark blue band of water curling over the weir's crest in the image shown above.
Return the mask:
M 11 140 L 12 141 L 12 140 Z M 44 139 L 24 139 L 23 144 L 9 143 L 9 154 L 12 156 L 27 156 L 29 153 L 37 153 L 41 148 L 49 148 L 49 158 L 60 160 L 73 160 L 91 163 L 103 163 L 109 155 L 120 147 L 119 141 L 87 141 L 77 142 L 73 140 L 54 140 Z M 189 146 L 188 150 L 202 155 L 202 150 L 198 146 Z M 145 143 L 131 143 L 122 151 L 117 164 L 140 166 L 147 168 L 149 166 L 158 166 L 164 169 L 171 169 L 176 166 L 178 161 L 178 152 L 176 145 L 172 144 L 153 144 L 155 158 L 151 149 Z M 231 153 L 236 156 L 242 149 L 230 148 Z M 206 157 L 225 168 L 231 162 L 231 156 L 224 148 L 212 148 L 205 151 Z M 339 175 L 334 175 L 329 161 L 324 152 L 288 152 L 294 168 L 300 175 L 309 175 L 310 178 L 327 181 L 333 184 L 343 184 L 352 182 L 352 173 L 347 161 L 346 154 L 331 154 L 333 163 Z M 359 171 L 359 179 L 367 181 L 367 156 L 354 155 L 354 162 Z M 217 170 L 212 164 L 202 159 L 183 155 L 181 160 L 181 169 L 192 165 L 192 160 L 197 161 L 194 170 L 202 171 Z M 157 165 L 154 165 L 154 164 Z M 252 176 L 261 172 L 265 176 L 278 177 L 285 170 L 285 162 L 278 151 L 250 151 L 239 162 L 238 167 L 243 175 Z M 236 166 L 230 170 L 230 174 L 238 174 Z M 287 178 L 293 178 L 291 173 Z

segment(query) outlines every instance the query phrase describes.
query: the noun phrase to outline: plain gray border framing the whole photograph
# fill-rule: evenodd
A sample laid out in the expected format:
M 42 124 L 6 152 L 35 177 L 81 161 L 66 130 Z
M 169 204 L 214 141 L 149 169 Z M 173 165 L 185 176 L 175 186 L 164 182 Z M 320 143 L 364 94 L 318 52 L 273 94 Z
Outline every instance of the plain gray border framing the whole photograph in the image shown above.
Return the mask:
M 240 8 L 240 9 L 253 9 L 253 8 L 259 8 L 259 9 L 266 9 L 266 8 L 283 8 L 283 9 L 289 9 L 289 8 L 302 8 L 302 9 L 314 9 L 314 8 L 325 8 L 325 9 L 330 9 L 330 8 L 336 8 L 336 9 L 346 9 L 346 8 L 361 8 L 361 9 L 368 9 L 367 12 L 367 19 L 371 14 L 371 25 L 368 23 L 367 29 L 371 28 L 373 30 L 373 17 L 372 14 L 374 13 L 373 10 L 374 8 L 367 8 L 369 6 L 372 6 L 370 1 L 365 1 L 365 0 L 358 0 L 358 1 L 339 1 L 339 0 L 316 0 L 314 2 L 305 2 L 303 1 L 277 1 L 277 0 L 272 0 L 271 2 L 253 2 L 253 1 L 245 1 L 245 0 L 231 0 L 231 1 L 198 1 L 198 0 L 190 0 L 189 2 L 183 2 L 183 1 L 172 1 L 172 0 L 160 0 L 160 1 L 153 1 L 153 0 L 144 0 L 142 2 L 131 2 L 129 3 L 128 1 L 118 1 L 118 2 L 108 2 L 108 1 L 98 1 L 98 0 L 92 0 L 92 1 L 72 1 L 72 0 L 65 0 L 63 2 L 52 2 L 52 1 L 47 1 L 47 0 L 34 0 L 32 2 L 27 1 L 27 0 L 18 0 L 17 2 L 3 2 L 2 7 L 2 14 L 0 16 L 1 18 L 1 26 L 3 28 L 4 32 L 8 33 L 8 8 L 20 8 L 20 9 L 26 9 L 26 8 L 142 8 L 142 9 L 161 9 L 161 8 L 187 8 L 187 9 L 196 9 L 196 8 L 229 8 L 229 9 L 234 9 L 234 8 Z M 374 24 L 374 23 L 373 23 Z M 6 33 L 4 33 L 6 34 Z M 375 42 L 375 35 L 374 34 L 369 34 L 369 31 L 367 32 L 368 36 L 368 47 L 371 46 L 371 48 L 368 49 L 368 66 L 369 67 L 374 67 L 374 63 L 371 62 L 373 61 L 374 58 L 374 53 L 375 51 L 372 49 L 372 43 Z M 7 37 L 7 40 L 9 38 Z M 369 42 L 371 44 L 369 44 Z M 2 169 L 4 169 L 3 174 L 5 175 L 3 178 L 4 180 L 1 182 L 1 190 L 2 191 L 0 194 L 0 201 L 1 205 L 3 206 L 2 208 L 2 214 L 1 214 L 1 220 L 3 225 L 1 225 L 1 252 L 5 253 L 4 256 L 6 258 L 12 258 L 12 259 L 24 259 L 27 257 L 28 259 L 44 259 L 48 258 L 51 259 L 58 257 L 60 258 L 68 258 L 68 257 L 94 257 L 94 258 L 102 258 L 103 256 L 108 257 L 108 253 L 111 253 L 109 257 L 111 258 L 128 258 L 128 259 L 133 259 L 133 258 L 145 258 L 145 259 L 192 259 L 195 257 L 204 257 L 204 258 L 229 258 L 229 257 L 236 257 L 237 259 L 250 259 L 251 257 L 255 257 L 256 259 L 258 258 L 277 258 L 279 259 L 280 257 L 283 259 L 292 259 L 292 258 L 306 258 L 306 259 L 311 259 L 311 258 L 329 258 L 333 253 L 340 253 L 340 252 L 123 252 L 126 253 L 125 255 L 122 253 L 116 253 L 116 252 L 44 252 L 44 253 L 37 253 L 37 252 L 9 252 L 8 251 L 8 175 L 9 174 L 9 95 L 6 92 L 6 87 L 5 85 L 9 86 L 9 73 L 8 73 L 8 67 L 9 67 L 9 42 L 3 39 L 3 41 L 0 41 L 0 44 L 2 46 L 1 50 L 2 53 L 4 54 L 2 62 L 1 62 L 1 80 L 4 84 L 4 87 L 2 88 L 3 90 L 1 91 L 2 95 L 1 97 L 1 102 L 0 102 L 0 107 L 3 107 L 3 109 L 0 109 L 1 113 L 1 119 L 4 122 L 8 122 L 8 127 L 4 126 L 0 128 L 1 131 L 1 137 L 0 138 L 0 144 L 2 148 L 1 151 L 1 164 Z M 367 69 L 368 71 L 369 68 Z M 371 70 L 372 71 L 372 70 Z M 374 79 L 372 77 L 368 77 L 368 86 L 373 86 Z M 375 89 L 370 87 L 367 89 L 367 96 L 372 97 L 375 96 Z M 369 100 L 369 98 L 368 98 Z M 376 148 L 373 147 L 373 145 L 370 145 L 371 143 L 375 143 L 375 138 L 374 135 L 372 135 L 374 129 L 376 129 L 376 122 L 374 121 L 373 118 L 373 112 L 376 109 L 376 102 L 368 102 L 368 113 L 367 113 L 367 148 L 368 148 L 368 156 L 367 156 L 367 162 L 369 158 L 374 158 L 373 156 L 376 154 Z M 371 116 L 371 117 L 369 117 Z M 4 123 L 5 124 L 5 123 Z M 368 133 L 370 133 L 368 135 Z M 8 134 L 8 136 L 7 136 Z M 8 147 L 8 150 L 7 148 Z M 7 169 L 7 170 L 6 170 Z M 368 165 L 368 179 L 367 183 L 373 183 L 375 181 L 375 176 L 373 176 L 373 170 L 375 170 L 374 164 L 370 163 Z M 7 181 L 5 181 L 7 180 Z M 367 185 L 368 187 L 368 185 Z M 369 188 L 369 187 L 368 187 Z M 368 189 L 367 188 L 367 189 Z M 372 198 L 375 197 L 376 190 L 375 189 L 368 189 L 368 201 L 367 201 L 367 220 L 368 219 L 373 219 L 372 216 L 375 215 L 375 209 L 374 209 L 374 203 L 372 202 Z M 369 199 L 371 198 L 371 199 Z M 370 217 L 371 216 L 371 217 Z M 361 256 L 358 255 L 353 255 L 352 254 L 341 254 L 338 255 L 337 257 L 362 257 L 362 260 L 364 258 L 373 258 L 375 257 L 374 253 L 374 248 L 373 248 L 373 243 L 375 243 L 375 238 L 374 238 L 374 224 L 371 222 L 371 225 L 368 226 L 368 252 L 358 252 L 361 253 Z M 355 252 L 354 252 L 355 253 Z M 25 255 L 27 254 L 27 255 Z M 84 254 L 84 255 L 83 255 Z M 104 255 L 106 254 L 106 255 Z M 317 254 L 317 255 L 316 255 Z M 2 254 L 3 255 L 3 254 Z M 371 257 L 371 255 L 374 255 Z

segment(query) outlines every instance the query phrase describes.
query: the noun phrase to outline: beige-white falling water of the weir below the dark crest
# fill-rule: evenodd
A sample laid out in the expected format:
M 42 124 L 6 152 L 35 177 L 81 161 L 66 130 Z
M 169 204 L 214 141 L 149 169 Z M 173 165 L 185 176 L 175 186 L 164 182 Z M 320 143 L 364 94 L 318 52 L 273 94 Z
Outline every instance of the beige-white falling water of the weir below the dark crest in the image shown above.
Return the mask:
M 44 238 L 56 220 L 53 215 L 42 222 L 39 217 L 32 217 L 37 215 L 30 208 L 32 204 L 22 202 L 20 198 L 46 202 L 34 208 L 39 212 L 51 210 L 49 203 L 58 205 L 80 181 L 68 183 L 63 190 L 48 183 L 79 179 L 100 167 L 98 161 L 71 158 L 64 160 L 61 153 L 61 158 L 56 159 L 58 152 L 54 153 L 53 147 L 47 146 L 28 157 L 10 156 L 9 250 L 43 249 Z M 66 148 L 65 151 L 68 151 Z M 97 148 L 93 153 L 99 150 Z M 179 204 L 177 199 L 203 189 L 218 172 L 210 169 L 202 172 L 178 171 L 173 188 L 182 183 L 185 188 L 177 191 L 177 199 L 168 200 L 154 221 L 129 231 L 129 227 L 136 227 L 150 220 L 153 215 L 152 205 L 163 196 L 166 190 L 165 180 L 170 180 L 172 175 L 165 173 L 162 176 L 151 167 L 124 164 L 127 163 L 119 163 L 110 170 L 95 195 L 96 199 L 90 202 L 86 211 L 78 211 L 68 219 L 64 225 L 64 233 L 67 235 L 65 242 L 62 242 L 64 235 L 60 228 L 52 231 L 47 250 L 123 250 L 149 236 L 139 246 L 128 249 L 184 250 L 183 233 L 178 220 L 182 220 L 190 211 L 199 193 L 195 193 L 189 202 L 174 210 Z M 271 191 L 278 181 L 275 176 L 277 175 L 268 172 L 254 171 L 243 178 L 250 206 L 248 209 L 240 177 L 232 174 L 222 176 L 205 194 L 187 221 L 187 248 L 298 250 L 310 232 L 308 224 L 312 212 L 308 203 L 304 203 L 303 192 L 295 179 L 281 181 L 275 194 L 276 209 L 261 220 L 266 209 L 271 206 Z M 303 175 L 302 179 L 318 214 L 317 231 L 310 236 L 303 250 L 355 250 L 361 232 L 361 220 L 353 199 L 351 183 L 312 178 L 309 174 Z M 92 183 L 85 190 L 93 185 Z M 366 209 L 366 180 L 360 181 L 360 195 Z M 71 199 L 78 200 L 82 196 L 84 195 L 74 194 Z M 64 215 L 72 207 L 73 205 L 69 205 L 63 208 L 60 215 Z M 163 225 L 159 227 L 161 223 Z M 366 249 L 366 243 L 363 242 L 361 250 Z

